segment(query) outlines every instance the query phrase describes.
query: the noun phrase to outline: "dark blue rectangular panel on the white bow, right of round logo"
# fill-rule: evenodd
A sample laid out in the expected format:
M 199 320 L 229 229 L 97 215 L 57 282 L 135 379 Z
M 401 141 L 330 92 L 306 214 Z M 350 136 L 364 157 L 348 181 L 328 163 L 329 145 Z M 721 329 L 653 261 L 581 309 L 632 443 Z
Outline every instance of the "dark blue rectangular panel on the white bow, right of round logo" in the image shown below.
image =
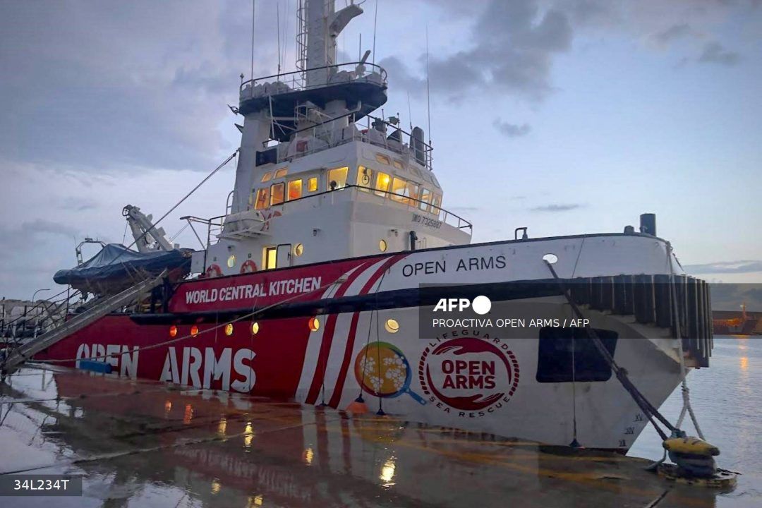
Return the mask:
M 604 347 L 613 356 L 618 334 L 595 329 Z M 574 370 L 571 352 L 574 350 Z M 573 375 L 572 375 L 573 373 Z M 539 329 L 537 382 L 607 381 L 611 367 L 595 347 L 584 328 L 543 327 Z

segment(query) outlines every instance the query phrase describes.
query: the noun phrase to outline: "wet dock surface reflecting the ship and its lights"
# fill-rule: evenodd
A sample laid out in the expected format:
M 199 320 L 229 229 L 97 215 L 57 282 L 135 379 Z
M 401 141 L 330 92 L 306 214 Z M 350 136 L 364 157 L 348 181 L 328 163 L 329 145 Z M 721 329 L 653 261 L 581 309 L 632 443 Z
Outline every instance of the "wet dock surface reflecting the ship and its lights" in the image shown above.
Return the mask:
M 647 464 L 69 369 L 0 385 L 0 473 L 85 477 L 2 506 L 743 506 Z

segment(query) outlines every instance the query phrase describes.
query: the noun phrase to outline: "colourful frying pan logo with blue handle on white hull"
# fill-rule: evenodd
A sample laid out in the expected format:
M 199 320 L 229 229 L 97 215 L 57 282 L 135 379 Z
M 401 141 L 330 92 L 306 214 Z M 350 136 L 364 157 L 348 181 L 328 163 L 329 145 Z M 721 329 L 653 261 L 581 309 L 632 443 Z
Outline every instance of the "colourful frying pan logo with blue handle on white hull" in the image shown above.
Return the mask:
M 399 397 L 407 393 L 418 404 L 426 401 L 410 389 L 413 372 L 405 354 L 388 342 L 368 344 L 354 360 L 354 375 L 363 391 L 383 398 Z

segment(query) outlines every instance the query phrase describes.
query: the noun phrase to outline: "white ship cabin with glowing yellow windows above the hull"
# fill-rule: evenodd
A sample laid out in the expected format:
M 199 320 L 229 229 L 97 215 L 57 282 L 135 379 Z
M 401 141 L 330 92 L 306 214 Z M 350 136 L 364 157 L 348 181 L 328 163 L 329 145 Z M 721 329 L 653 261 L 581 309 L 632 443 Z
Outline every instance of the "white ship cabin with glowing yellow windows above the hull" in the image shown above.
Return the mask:
M 386 136 L 389 122 L 374 123 L 259 152 L 248 195 L 230 194 L 228 213 L 210 223 L 217 241 L 194 256 L 192 271 L 219 276 L 468 244 L 471 223 L 443 208 L 431 155 L 415 150 L 422 131 Z

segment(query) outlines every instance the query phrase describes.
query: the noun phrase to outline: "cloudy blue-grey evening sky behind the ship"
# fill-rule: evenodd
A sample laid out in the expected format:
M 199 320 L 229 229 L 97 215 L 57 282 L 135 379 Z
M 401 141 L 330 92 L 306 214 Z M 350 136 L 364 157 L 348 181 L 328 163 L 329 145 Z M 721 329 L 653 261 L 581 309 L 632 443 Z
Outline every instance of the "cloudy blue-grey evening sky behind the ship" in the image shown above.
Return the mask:
M 375 2 L 340 59 L 360 34 L 372 49 Z M 277 11 L 293 69 L 295 4 L 257 0 L 255 75 L 277 69 Z M 426 31 L 435 169 L 475 241 L 620 232 L 655 212 L 691 272 L 762 282 L 762 1 L 379 0 L 371 59 L 405 125 L 426 125 Z M 226 104 L 250 44 L 245 0 L 0 0 L 0 296 L 56 289 L 85 235 L 121 242 L 125 204 L 161 216 L 235 150 Z M 233 178 L 168 234 L 221 214 Z

